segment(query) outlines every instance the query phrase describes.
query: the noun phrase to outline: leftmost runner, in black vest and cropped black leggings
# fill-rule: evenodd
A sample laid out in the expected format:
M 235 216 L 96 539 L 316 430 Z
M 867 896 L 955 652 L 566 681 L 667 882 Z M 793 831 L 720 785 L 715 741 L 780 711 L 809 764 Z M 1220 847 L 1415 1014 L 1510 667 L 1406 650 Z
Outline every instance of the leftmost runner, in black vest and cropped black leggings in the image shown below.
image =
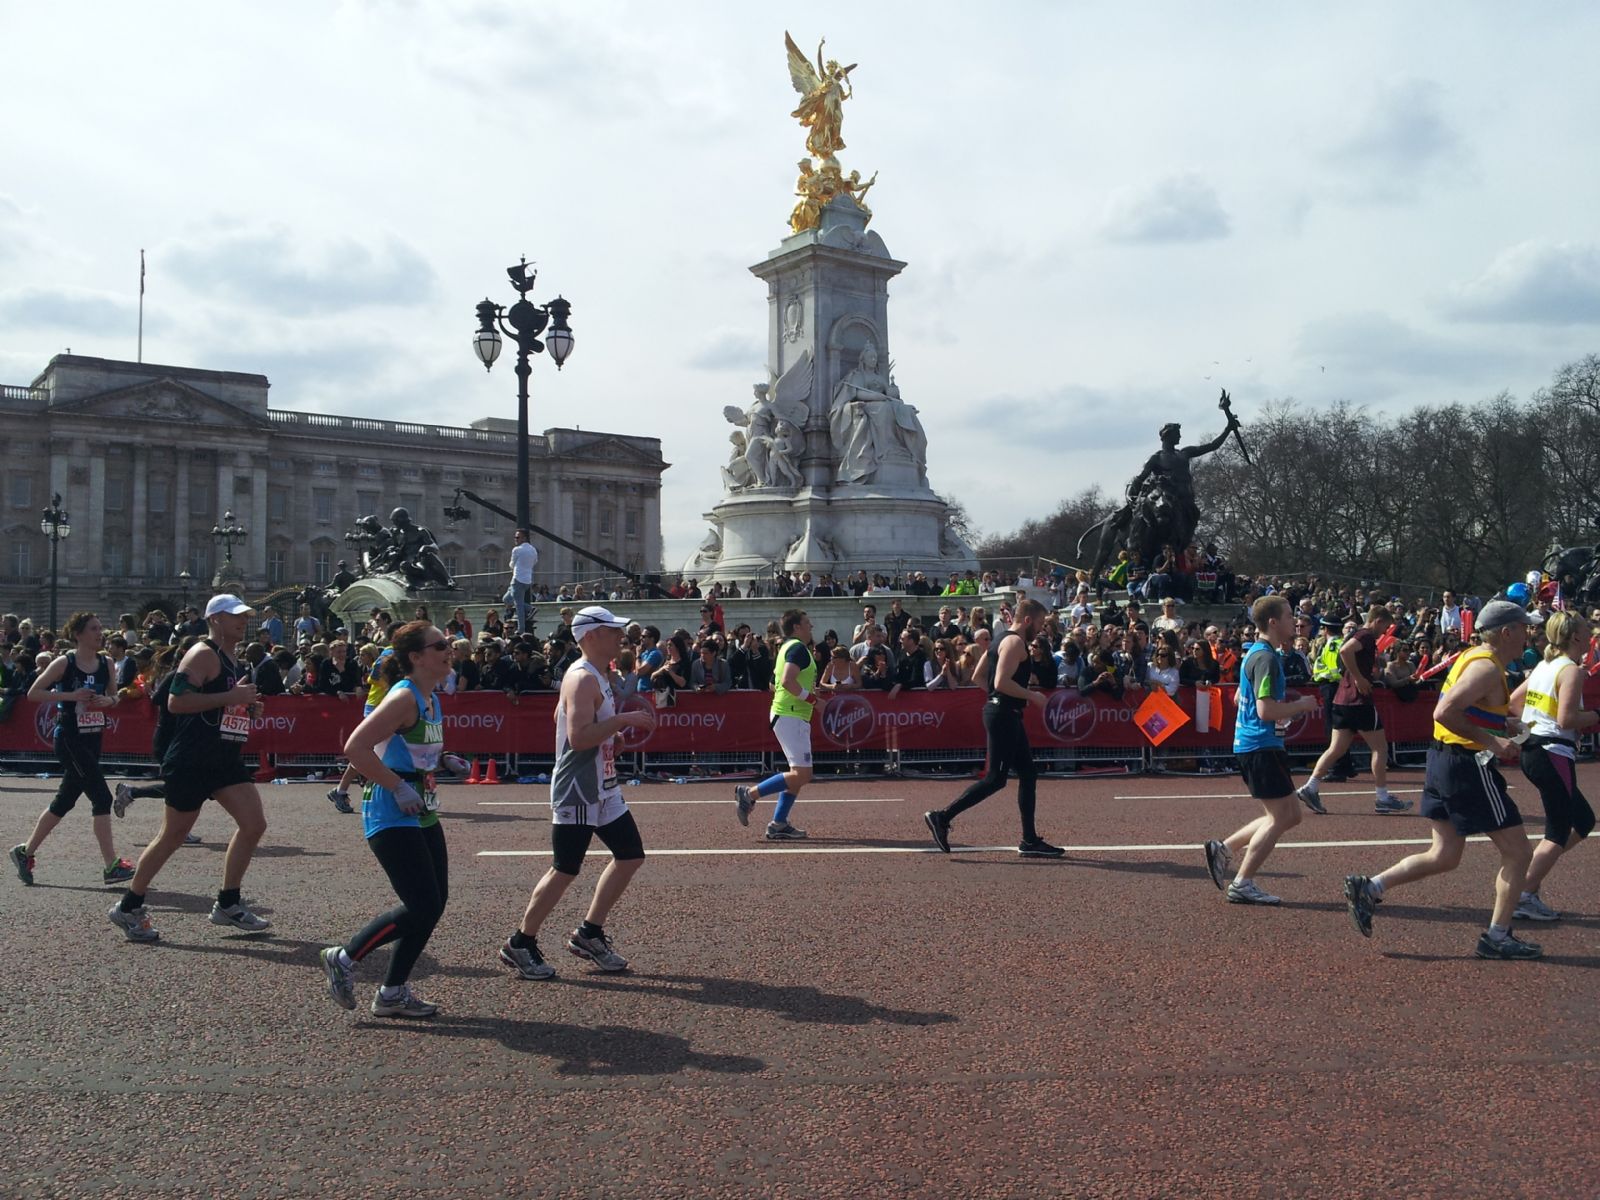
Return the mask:
M 133 864 L 117 854 L 110 838 L 110 789 L 101 771 L 101 736 L 106 733 L 106 709 L 117 702 L 110 662 L 101 654 L 104 632 L 93 613 L 74 613 L 61 630 L 61 638 L 72 643 L 72 653 L 62 654 L 45 667 L 27 690 L 30 701 L 43 704 L 51 696 L 56 702 L 56 762 L 61 763 L 61 787 L 50 808 L 38 814 L 34 835 L 11 846 L 11 866 L 24 883 L 34 882 L 34 854 L 72 811 L 80 795 L 90 798 L 94 814 L 94 840 L 99 842 L 106 862 L 102 883 L 122 883 L 133 878 Z

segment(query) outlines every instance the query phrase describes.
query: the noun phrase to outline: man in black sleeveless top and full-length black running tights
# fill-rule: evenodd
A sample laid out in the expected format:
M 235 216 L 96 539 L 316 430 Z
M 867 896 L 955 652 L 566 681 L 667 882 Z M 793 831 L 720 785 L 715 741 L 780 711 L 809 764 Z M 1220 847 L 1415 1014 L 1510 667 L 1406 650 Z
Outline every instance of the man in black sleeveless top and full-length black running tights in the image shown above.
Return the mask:
M 982 779 L 962 792 L 949 808 L 923 813 L 922 819 L 933 834 L 933 845 L 950 853 L 950 824 L 973 805 L 989 798 L 1005 787 L 1006 776 L 1016 771 L 1016 806 L 1022 816 L 1022 842 L 1016 853 L 1024 858 L 1061 858 L 1067 851 L 1053 846 L 1034 829 L 1034 803 L 1038 773 L 1034 770 L 1034 752 L 1027 744 L 1022 714 L 1029 704 L 1045 707 L 1050 698 L 1027 686 L 1032 664 L 1027 648 L 1045 626 L 1045 606 L 1038 600 L 1024 600 L 1016 606 L 1011 627 L 1000 634 L 984 656 L 989 669 L 989 701 L 984 704 L 984 733 L 989 739 L 989 771 Z

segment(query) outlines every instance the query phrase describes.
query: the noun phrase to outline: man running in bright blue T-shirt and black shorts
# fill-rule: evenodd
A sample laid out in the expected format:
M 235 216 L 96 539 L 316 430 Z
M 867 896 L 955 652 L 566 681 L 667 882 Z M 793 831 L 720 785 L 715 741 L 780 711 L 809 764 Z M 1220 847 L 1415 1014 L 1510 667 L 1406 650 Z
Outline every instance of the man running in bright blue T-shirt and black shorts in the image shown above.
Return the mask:
M 1256 872 L 1266 864 L 1278 838 L 1301 822 L 1290 757 L 1277 723 L 1312 712 L 1318 701 L 1315 696 L 1288 699 L 1280 656 L 1294 637 L 1290 602 L 1282 595 L 1264 595 L 1251 606 L 1250 619 L 1261 640 L 1245 650 L 1238 664 L 1234 758 L 1245 787 L 1266 813 L 1221 842 L 1206 842 L 1205 866 L 1211 872 L 1211 882 L 1227 894 L 1229 904 L 1282 904 L 1278 896 L 1262 891 L 1256 883 Z M 1245 858 L 1238 862 L 1238 874 L 1229 882 L 1227 870 L 1240 850 Z

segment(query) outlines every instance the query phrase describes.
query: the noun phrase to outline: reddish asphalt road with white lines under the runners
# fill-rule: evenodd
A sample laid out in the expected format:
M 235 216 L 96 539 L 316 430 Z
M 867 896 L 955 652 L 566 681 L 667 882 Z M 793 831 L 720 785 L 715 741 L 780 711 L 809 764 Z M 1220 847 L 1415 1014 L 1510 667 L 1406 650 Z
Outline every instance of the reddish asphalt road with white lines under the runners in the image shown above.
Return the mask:
M 0 781 L 5 845 L 51 787 Z M 365 1010 L 386 950 L 355 1013 L 323 992 L 317 950 L 392 904 L 323 786 L 261 789 L 245 896 L 270 933 L 206 922 L 230 830 L 208 806 L 150 893 L 158 946 L 107 923 L 80 803 L 37 886 L 0 878 L 0 1194 L 1597 1194 L 1600 850 L 1552 875 L 1570 912 L 1528 931 L 1542 962 L 1480 962 L 1486 845 L 1350 930 L 1344 874 L 1426 837 L 1354 784 L 1274 856 L 1275 910 L 1205 874 L 1198 843 L 1259 811 L 1235 776 L 1045 782 L 1064 862 L 926 853 L 922 811 L 958 787 L 814 786 L 805 846 L 741 829 L 726 784 L 629 789 L 654 854 L 608 931 L 634 970 L 560 950 L 595 856 L 542 936 L 550 982 L 496 960 L 549 864 L 547 789 L 453 787 L 450 909 L 414 976 L 442 1014 L 411 1024 Z M 117 822 L 122 853 L 158 803 Z M 1016 835 L 1010 792 L 954 834 Z M 1365 840 L 1386 845 L 1333 845 Z

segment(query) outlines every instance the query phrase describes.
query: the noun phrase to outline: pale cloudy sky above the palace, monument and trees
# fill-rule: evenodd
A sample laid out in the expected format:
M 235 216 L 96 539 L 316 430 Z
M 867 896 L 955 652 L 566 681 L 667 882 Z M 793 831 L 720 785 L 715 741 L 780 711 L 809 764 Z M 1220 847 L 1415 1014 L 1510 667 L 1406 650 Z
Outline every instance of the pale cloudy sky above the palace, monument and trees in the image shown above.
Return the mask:
M 0 382 L 256 371 L 275 408 L 515 416 L 474 306 L 573 304 L 534 429 L 659 437 L 669 570 L 763 379 L 803 131 L 904 259 L 888 354 L 986 533 L 1293 397 L 1526 398 L 1600 350 L 1600 6 L 0 0 Z M 3 434 L 0 434 L 3 440 Z

